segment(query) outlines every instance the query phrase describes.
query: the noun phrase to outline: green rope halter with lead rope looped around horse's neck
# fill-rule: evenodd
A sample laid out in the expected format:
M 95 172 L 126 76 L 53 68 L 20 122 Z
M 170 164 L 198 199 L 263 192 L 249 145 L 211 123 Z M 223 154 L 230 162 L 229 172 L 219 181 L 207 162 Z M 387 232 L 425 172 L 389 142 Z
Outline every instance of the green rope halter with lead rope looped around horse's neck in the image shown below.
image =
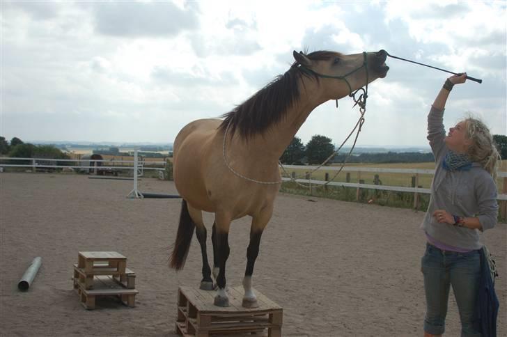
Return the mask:
M 354 139 L 354 144 L 352 144 L 352 148 L 350 149 L 350 151 L 348 152 L 348 155 L 345 157 L 345 159 L 343 160 L 343 163 L 341 164 L 341 168 L 340 170 L 338 170 L 338 172 L 336 172 L 336 174 L 334 175 L 333 178 L 331 178 L 330 180 L 328 180 L 324 185 L 320 185 L 320 186 L 325 186 L 327 184 L 329 184 L 329 182 L 333 181 L 334 178 L 336 178 L 336 176 L 343 170 L 343 167 L 345 166 L 345 162 L 347 162 L 347 159 L 348 157 L 350 157 L 350 155 L 352 154 L 352 150 L 354 150 L 354 147 L 356 146 L 356 142 L 357 142 L 357 137 L 359 136 L 359 132 L 361 132 L 361 127 L 363 126 L 364 124 L 364 113 L 366 112 L 366 98 L 368 98 L 368 79 L 369 79 L 369 72 L 368 72 L 368 58 L 366 57 L 366 52 L 363 52 L 363 64 L 359 66 L 359 68 L 356 68 L 350 72 L 348 72 L 347 74 L 345 75 L 342 75 L 342 76 L 332 76 L 332 75 L 325 75 L 325 74 L 320 74 L 318 72 L 315 72 L 314 70 L 311 70 L 310 68 L 306 68 L 304 65 L 302 64 L 299 64 L 298 68 L 302 70 L 302 72 L 306 72 L 306 74 L 313 74 L 317 77 L 322 77 L 322 78 L 325 78 L 325 79 L 341 79 L 343 81 L 345 81 L 345 83 L 347 84 L 347 86 L 349 87 L 349 97 L 352 97 L 352 100 L 354 100 L 354 106 L 355 107 L 356 105 L 359 105 L 359 112 L 361 113 L 361 117 L 359 117 L 359 120 L 357 121 L 356 125 L 354 126 L 354 129 L 352 129 L 352 132 L 350 132 L 350 134 L 348 135 L 348 137 L 345 139 L 345 141 L 343 141 L 343 143 L 341 143 L 341 146 L 338 148 L 338 150 L 334 151 L 329 157 L 327 157 L 327 159 L 322 163 L 320 164 L 319 166 L 317 166 L 315 169 L 313 169 L 313 171 L 311 171 L 311 173 L 317 171 L 318 169 L 320 169 L 320 167 L 324 166 L 325 164 L 327 164 L 327 162 L 329 162 L 329 160 L 331 160 L 332 157 L 334 157 L 335 155 L 338 154 L 338 151 L 341 150 L 341 148 L 343 147 L 343 145 L 348 141 L 348 139 L 350 138 L 350 136 L 352 136 L 352 133 L 354 133 L 354 130 L 357 129 L 357 127 L 359 126 L 359 129 L 357 130 L 357 134 L 356 134 L 356 137 Z M 352 86 L 350 86 L 350 83 L 349 81 L 347 80 L 347 77 L 349 75 L 352 75 L 354 72 L 357 72 L 358 70 L 361 70 L 361 68 L 363 68 L 366 70 L 366 90 L 364 88 L 359 88 L 357 89 L 356 91 L 354 91 L 352 93 Z M 362 93 L 359 95 L 359 97 L 356 98 L 356 95 L 359 91 L 362 91 Z M 352 108 L 353 108 L 352 107 Z M 336 108 L 338 108 L 338 99 L 336 100 Z M 229 126 L 231 125 L 231 122 L 229 122 L 229 124 L 227 125 L 226 127 L 226 131 L 224 132 L 224 143 L 222 144 L 222 156 L 224 157 L 224 163 L 226 164 L 227 168 L 229 169 L 229 171 L 231 171 L 232 173 L 234 173 L 235 175 L 237 175 L 238 177 L 244 179 L 244 180 L 248 180 L 250 182 L 256 182 L 257 184 L 262 184 L 262 185 L 276 185 L 276 184 L 281 184 L 282 183 L 282 180 L 278 180 L 278 181 L 272 181 L 272 182 L 267 182 L 267 181 L 260 181 L 260 180 L 254 180 L 254 179 L 251 179 L 251 178 L 248 178 L 248 177 L 245 177 L 244 175 L 242 175 L 241 173 L 238 173 L 236 172 L 230 165 L 229 163 L 227 162 L 227 158 L 226 158 L 226 139 L 227 139 L 227 133 L 228 133 L 228 130 L 229 130 Z M 281 164 L 281 162 L 279 162 L 279 166 L 281 167 L 281 169 L 286 173 L 288 174 L 288 172 L 286 171 L 286 169 L 283 167 L 283 165 Z M 291 180 L 295 181 L 298 185 L 301 185 L 302 187 L 308 187 L 306 185 L 302 185 L 301 183 L 297 182 L 295 179 L 291 178 Z M 311 186 L 309 187 L 311 188 Z

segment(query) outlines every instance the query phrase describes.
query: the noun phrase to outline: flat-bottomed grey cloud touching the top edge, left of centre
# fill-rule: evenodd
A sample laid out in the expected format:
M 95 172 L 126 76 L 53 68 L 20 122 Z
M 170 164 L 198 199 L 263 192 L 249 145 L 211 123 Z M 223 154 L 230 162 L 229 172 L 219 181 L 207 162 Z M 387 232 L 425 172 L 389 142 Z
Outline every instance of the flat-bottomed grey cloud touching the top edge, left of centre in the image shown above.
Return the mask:
M 100 2 L 93 6 L 95 29 L 118 37 L 176 36 L 198 28 L 197 8 L 172 2 Z

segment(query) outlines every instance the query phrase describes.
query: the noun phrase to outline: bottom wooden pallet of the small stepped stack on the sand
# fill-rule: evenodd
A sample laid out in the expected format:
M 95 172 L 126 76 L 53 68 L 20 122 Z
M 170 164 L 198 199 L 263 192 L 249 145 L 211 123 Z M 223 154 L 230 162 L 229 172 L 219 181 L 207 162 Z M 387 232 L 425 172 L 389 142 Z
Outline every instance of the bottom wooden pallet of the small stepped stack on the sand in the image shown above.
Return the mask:
M 88 310 L 95 308 L 95 297 L 116 295 L 123 304 L 134 307 L 135 299 L 138 291 L 135 289 L 127 289 L 123 285 L 119 285 L 112 276 L 95 276 L 93 289 L 89 290 L 84 287 L 83 283 L 77 283 L 77 293 L 81 299 L 81 304 Z

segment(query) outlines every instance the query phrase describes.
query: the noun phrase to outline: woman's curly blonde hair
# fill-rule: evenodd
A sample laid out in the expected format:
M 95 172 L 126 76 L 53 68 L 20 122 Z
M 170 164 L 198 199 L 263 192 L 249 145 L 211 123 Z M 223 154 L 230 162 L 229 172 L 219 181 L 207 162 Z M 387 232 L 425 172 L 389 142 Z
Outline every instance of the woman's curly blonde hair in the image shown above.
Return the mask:
M 469 117 L 464 122 L 466 125 L 466 136 L 471 140 L 471 146 L 469 146 L 467 151 L 471 161 L 481 164 L 496 179 L 501 157 L 490 130 L 477 118 Z

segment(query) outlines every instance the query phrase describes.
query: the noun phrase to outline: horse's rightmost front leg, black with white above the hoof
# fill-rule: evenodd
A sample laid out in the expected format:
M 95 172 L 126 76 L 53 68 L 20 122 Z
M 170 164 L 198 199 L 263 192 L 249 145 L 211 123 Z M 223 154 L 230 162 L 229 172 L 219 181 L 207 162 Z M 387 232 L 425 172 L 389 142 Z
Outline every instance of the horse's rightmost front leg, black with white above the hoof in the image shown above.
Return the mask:
M 260 214 L 253 217 L 250 229 L 250 244 L 247 249 L 247 269 L 244 272 L 243 288 L 244 297 L 242 306 L 244 308 L 257 308 L 257 297 L 251 288 L 251 276 L 253 274 L 253 265 L 255 265 L 257 256 L 259 254 L 260 237 L 263 235 L 263 230 L 268 221 L 270 221 L 273 214 L 273 207 L 265 208 Z

